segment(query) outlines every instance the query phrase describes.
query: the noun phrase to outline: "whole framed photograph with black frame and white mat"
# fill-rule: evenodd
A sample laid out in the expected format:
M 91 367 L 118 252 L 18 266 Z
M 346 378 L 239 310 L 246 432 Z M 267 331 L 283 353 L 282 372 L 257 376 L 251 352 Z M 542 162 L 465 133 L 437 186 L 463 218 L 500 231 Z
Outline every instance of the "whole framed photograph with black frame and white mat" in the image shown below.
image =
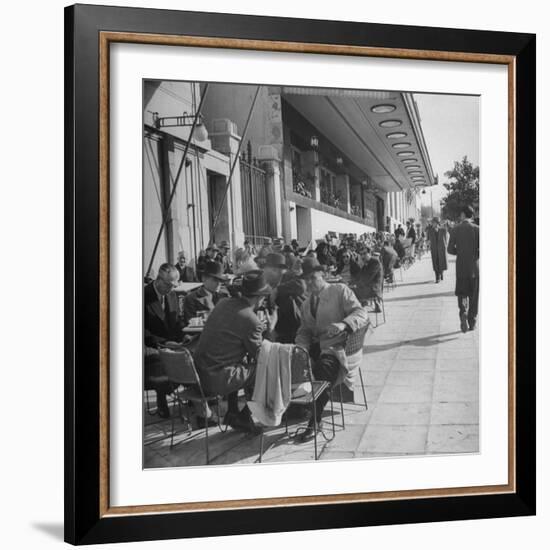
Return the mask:
M 535 513 L 535 36 L 66 8 L 65 538 Z

